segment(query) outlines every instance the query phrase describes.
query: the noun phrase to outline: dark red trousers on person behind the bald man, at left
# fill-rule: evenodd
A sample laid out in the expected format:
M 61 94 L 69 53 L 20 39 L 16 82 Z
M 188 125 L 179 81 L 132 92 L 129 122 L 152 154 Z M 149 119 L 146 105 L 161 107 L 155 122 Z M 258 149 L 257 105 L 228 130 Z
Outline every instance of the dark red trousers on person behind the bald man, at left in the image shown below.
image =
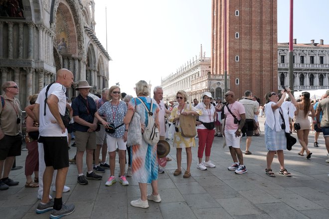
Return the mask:
M 28 153 L 25 160 L 25 176 L 30 176 L 34 171 L 39 171 L 38 142 L 28 142 L 26 148 Z

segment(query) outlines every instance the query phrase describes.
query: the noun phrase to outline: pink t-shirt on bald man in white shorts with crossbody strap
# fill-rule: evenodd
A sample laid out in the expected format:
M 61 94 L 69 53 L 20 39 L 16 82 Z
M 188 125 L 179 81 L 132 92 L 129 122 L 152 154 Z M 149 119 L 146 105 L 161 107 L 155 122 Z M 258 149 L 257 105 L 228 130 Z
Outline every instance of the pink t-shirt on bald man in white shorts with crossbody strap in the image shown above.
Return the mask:
M 245 114 L 246 110 L 244 109 L 243 104 L 235 101 L 233 104 L 229 104 L 228 108 L 231 110 L 231 112 L 236 116 L 238 120 L 241 119 L 240 114 Z M 224 114 L 226 115 L 226 121 L 225 121 L 225 129 L 227 130 L 237 130 L 239 127 L 239 124 L 234 124 L 234 117 L 232 114 L 228 111 L 227 107 L 224 107 Z

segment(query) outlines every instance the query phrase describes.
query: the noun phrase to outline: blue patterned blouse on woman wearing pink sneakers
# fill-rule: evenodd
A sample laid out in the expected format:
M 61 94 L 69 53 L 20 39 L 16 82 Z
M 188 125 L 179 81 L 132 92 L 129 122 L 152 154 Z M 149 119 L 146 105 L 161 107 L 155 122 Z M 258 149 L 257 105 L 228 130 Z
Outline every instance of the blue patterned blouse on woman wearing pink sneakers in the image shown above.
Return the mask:
M 100 115 L 106 114 L 106 121 L 108 123 L 113 123 L 114 127 L 118 127 L 123 123 L 123 119 L 127 113 L 127 105 L 125 102 L 120 101 L 118 105 L 112 104 L 112 101 L 106 102 L 98 109 Z M 114 133 L 110 134 L 111 137 L 119 138 L 125 134 L 126 125 L 122 125 L 115 130 Z

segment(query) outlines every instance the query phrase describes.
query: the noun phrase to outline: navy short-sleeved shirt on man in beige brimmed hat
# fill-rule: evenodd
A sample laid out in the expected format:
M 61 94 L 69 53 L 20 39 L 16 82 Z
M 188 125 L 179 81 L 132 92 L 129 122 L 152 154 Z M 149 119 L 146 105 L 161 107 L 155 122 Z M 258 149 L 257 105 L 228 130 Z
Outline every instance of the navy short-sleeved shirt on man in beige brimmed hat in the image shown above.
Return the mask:
M 84 99 L 81 95 L 75 98 L 71 105 L 73 109 L 73 116 L 79 116 L 83 120 L 93 123 L 96 109 L 95 101 L 87 96 L 87 100 Z M 76 131 L 87 132 L 89 129 L 88 126 L 81 125 L 77 122 L 74 122 L 74 128 Z

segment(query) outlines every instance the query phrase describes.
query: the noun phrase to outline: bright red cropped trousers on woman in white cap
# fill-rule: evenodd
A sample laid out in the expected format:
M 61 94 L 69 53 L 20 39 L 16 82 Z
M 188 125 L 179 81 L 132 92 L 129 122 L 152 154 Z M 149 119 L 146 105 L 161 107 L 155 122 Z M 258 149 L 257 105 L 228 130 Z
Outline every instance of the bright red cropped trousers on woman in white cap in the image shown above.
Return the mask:
M 197 129 L 197 135 L 199 137 L 199 147 L 197 149 L 197 157 L 203 157 L 203 151 L 205 148 L 205 156 L 210 156 L 212 142 L 215 137 L 215 129 Z

